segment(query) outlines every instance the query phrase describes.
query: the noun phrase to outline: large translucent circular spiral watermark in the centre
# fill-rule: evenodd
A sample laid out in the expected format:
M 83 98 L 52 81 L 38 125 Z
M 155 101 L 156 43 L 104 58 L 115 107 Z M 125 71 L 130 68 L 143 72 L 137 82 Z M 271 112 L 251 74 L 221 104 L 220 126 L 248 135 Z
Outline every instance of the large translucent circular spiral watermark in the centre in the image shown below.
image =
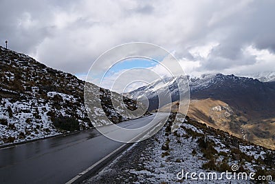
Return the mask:
M 173 79 L 174 94 L 166 79 Z M 157 85 L 152 85 L 154 81 L 158 81 Z M 130 95 L 132 90 L 142 86 L 149 89 L 147 94 Z M 152 97 L 153 94 L 157 97 Z M 84 89 L 85 108 L 91 123 L 104 136 L 123 143 L 143 141 L 157 133 L 172 112 L 173 96 L 179 99 L 176 111 L 181 112 L 173 122 L 172 131 L 175 131 L 188 110 L 188 79 L 173 54 L 158 45 L 140 42 L 118 45 L 101 54 L 91 65 Z M 135 101 L 134 108 L 129 108 L 129 99 Z M 142 127 L 120 127 L 120 121 L 148 115 L 152 103 L 157 103 L 157 112 L 149 123 Z M 106 104 L 113 110 L 107 112 Z M 166 111 L 159 112 L 164 105 Z

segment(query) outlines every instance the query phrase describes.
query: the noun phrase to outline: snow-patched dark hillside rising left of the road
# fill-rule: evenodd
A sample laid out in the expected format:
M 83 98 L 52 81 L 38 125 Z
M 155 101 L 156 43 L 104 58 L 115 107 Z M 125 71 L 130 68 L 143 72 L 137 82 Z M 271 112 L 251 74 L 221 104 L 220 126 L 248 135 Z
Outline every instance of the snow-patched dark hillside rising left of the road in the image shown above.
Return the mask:
M 28 141 L 92 127 L 84 105 L 85 81 L 54 70 L 25 54 L 0 47 L 0 144 Z M 102 108 L 89 110 L 100 125 L 100 114 L 114 123 L 128 118 L 113 108 L 109 90 L 90 84 L 100 92 Z M 115 94 L 119 95 L 119 94 Z M 124 98 L 126 108 L 137 102 Z M 120 102 L 123 105 L 122 102 Z

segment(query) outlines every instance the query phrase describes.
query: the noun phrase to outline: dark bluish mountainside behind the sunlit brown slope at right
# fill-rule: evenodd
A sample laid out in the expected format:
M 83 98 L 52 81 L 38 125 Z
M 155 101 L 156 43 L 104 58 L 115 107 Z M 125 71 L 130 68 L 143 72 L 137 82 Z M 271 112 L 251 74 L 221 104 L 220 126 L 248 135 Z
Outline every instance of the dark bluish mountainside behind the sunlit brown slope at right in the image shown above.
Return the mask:
M 272 83 L 223 74 L 216 74 L 207 83 L 199 89 L 190 83 L 192 99 L 221 100 L 251 118 L 270 118 L 275 115 L 275 88 Z

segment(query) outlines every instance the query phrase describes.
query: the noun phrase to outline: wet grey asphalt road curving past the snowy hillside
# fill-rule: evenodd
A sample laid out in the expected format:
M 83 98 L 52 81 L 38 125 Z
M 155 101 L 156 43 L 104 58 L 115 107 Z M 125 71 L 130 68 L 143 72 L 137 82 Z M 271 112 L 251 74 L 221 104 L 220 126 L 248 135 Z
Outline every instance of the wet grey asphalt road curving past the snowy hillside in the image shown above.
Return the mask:
M 164 116 L 167 114 L 161 114 L 155 122 Z M 142 127 L 154 117 L 155 114 L 125 121 L 120 127 Z M 126 136 L 130 140 L 137 134 Z M 0 149 L 0 183 L 66 183 L 123 144 L 93 129 L 3 148 Z

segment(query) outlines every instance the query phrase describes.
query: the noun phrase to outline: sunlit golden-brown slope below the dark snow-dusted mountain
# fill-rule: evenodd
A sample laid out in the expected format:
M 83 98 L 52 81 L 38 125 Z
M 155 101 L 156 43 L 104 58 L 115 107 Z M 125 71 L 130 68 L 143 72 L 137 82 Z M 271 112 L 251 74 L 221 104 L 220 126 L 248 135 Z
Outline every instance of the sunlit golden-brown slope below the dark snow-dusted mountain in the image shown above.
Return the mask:
M 172 111 L 177 111 L 179 102 L 172 103 Z M 165 105 L 159 111 L 167 112 L 170 105 Z M 220 100 L 192 99 L 188 116 L 211 127 L 228 132 L 241 139 L 263 145 L 275 150 L 275 119 L 245 114 Z

